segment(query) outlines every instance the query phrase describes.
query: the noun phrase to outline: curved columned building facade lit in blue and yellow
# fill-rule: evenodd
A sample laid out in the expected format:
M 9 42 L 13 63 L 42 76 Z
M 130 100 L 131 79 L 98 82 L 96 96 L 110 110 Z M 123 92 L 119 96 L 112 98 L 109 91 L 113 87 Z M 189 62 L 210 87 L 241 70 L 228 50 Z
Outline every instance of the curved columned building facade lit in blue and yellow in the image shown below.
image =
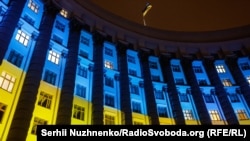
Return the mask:
M 89 1 L 0 4 L 0 140 L 36 140 L 38 124 L 250 124 L 250 26 L 160 31 Z

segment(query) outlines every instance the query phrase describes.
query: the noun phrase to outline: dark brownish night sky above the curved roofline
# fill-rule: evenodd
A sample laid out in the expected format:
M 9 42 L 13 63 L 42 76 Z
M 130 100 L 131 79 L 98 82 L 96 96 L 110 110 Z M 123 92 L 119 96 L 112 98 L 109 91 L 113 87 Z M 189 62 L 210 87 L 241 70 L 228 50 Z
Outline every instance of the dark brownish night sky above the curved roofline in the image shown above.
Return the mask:
M 174 31 L 211 31 L 250 24 L 250 0 L 91 0 L 118 16 Z

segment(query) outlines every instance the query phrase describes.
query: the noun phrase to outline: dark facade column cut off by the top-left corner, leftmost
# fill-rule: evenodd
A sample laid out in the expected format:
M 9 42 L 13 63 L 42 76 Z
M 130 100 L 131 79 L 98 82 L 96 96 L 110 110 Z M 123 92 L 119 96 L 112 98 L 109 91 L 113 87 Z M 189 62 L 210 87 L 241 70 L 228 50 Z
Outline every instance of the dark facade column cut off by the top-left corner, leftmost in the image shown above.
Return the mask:
M 0 22 L 0 65 L 21 17 L 26 0 L 10 0 L 8 9 Z

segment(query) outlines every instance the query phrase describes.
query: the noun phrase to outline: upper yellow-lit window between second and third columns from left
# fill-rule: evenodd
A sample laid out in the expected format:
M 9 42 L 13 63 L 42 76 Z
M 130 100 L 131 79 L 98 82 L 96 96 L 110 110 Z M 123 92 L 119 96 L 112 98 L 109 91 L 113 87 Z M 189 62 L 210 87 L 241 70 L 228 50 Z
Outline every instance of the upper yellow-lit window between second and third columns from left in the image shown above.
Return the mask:
M 52 95 L 47 94 L 45 92 L 40 92 L 38 105 L 50 109 L 52 102 Z

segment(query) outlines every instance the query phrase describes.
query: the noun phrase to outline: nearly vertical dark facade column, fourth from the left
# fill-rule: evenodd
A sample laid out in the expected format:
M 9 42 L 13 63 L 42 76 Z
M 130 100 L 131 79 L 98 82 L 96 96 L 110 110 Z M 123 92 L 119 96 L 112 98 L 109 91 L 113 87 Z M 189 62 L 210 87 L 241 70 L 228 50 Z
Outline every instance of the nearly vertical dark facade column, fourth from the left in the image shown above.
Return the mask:
M 95 31 L 94 41 L 94 70 L 93 70 L 93 90 L 92 90 L 92 123 L 93 125 L 103 125 L 103 87 L 104 87 L 104 65 L 103 65 L 103 43 L 105 37 Z

